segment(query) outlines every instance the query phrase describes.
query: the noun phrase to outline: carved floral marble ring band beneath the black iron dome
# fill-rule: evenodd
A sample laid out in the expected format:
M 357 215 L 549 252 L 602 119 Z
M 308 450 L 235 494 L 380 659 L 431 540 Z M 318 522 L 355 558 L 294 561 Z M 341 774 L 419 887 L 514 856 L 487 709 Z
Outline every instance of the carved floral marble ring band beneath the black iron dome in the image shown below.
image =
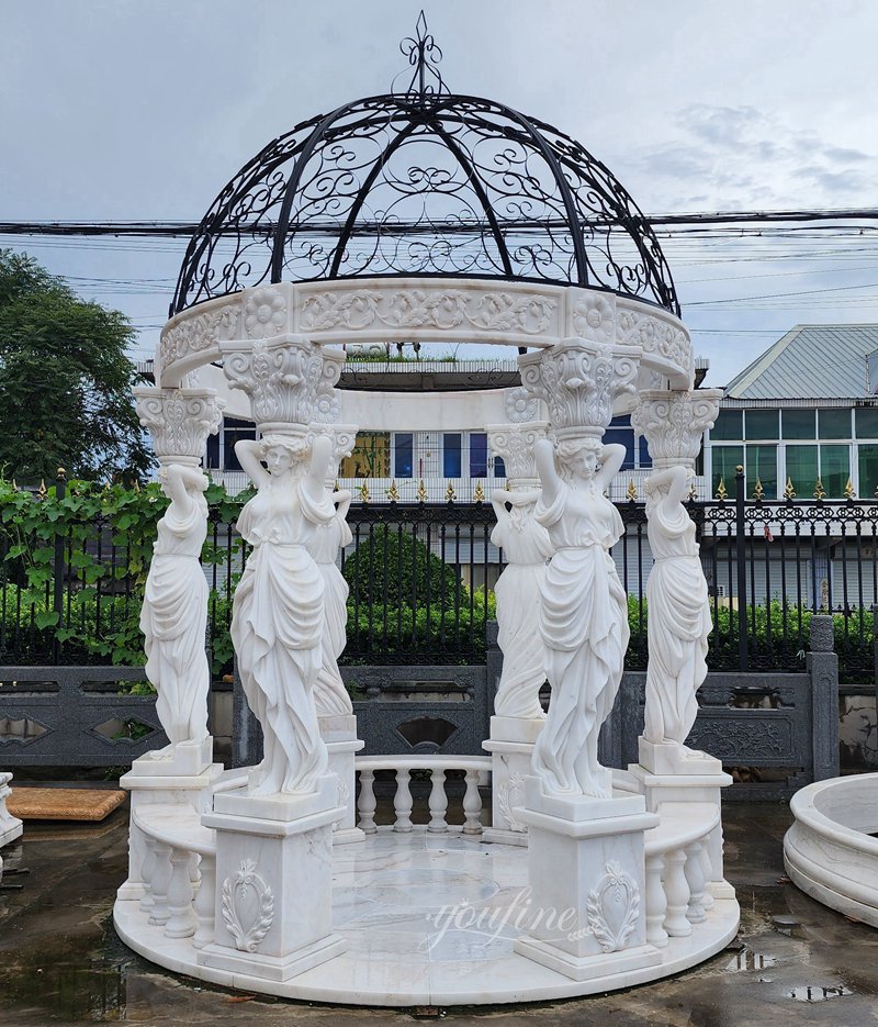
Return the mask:
M 694 358 L 683 323 L 667 311 L 609 292 L 531 282 L 437 278 L 278 282 L 210 300 L 161 333 L 157 376 L 179 386 L 222 357 L 230 341 L 307 335 L 312 342 L 485 342 L 549 347 L 574 336 L 643 350 L 650 380 L 688 389 Z M 533 420 L 528 418 L 528 420 Z

